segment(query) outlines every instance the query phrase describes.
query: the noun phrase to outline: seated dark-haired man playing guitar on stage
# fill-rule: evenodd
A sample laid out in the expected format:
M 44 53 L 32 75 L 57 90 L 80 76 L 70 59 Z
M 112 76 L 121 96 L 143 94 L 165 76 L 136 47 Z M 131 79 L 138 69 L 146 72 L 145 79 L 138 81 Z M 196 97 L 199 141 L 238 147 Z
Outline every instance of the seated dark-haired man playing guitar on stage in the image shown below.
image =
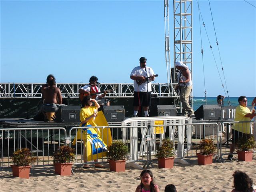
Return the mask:
M 79 92 L 79 98 L 82 101 L 85 96 L 92 96 L 98 104 L 100 105 L 107 105 L 109 106 L 109 101 L 106 100 L 104 97 L 106 96 L 106 91 L 100 92 L 100 88 L 98 88 L 98 78 L 96 76 L 91 76 L 89 80 L 89 84 L 87 86 L 81 87 L 78 92 Z M 100 93 L 103 93 L 99 95 Z

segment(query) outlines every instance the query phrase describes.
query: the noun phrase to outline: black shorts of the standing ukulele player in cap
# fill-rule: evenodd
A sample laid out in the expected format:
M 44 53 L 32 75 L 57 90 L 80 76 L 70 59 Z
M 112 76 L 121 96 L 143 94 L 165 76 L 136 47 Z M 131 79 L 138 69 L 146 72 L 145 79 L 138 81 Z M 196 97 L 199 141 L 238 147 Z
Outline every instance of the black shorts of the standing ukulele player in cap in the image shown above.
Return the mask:
M 133 106 L 151 106 L 151 92 L 134 91 Z

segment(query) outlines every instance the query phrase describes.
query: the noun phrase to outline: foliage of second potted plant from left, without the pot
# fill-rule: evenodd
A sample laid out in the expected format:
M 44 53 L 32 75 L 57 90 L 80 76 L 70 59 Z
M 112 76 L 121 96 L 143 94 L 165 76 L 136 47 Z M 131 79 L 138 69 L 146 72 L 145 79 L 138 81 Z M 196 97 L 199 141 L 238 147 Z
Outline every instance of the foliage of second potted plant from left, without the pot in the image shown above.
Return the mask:
M 54 151 L 53 154 L 54 163 L 66 163 L 71 162 L 76 157 L 75 149 L 68 145 L 62 145 Z

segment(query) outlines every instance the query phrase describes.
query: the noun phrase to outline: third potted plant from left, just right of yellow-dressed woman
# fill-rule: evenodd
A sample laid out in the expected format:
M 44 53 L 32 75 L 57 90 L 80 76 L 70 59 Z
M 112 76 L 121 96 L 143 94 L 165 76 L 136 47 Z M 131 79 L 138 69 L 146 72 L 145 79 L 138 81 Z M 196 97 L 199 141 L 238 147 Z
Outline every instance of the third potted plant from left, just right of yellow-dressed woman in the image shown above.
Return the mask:
M 122 141 L 114 141 L 107 151 L 110 171 L 125 171 L 125 158 L 128 156 L 128 146 Z

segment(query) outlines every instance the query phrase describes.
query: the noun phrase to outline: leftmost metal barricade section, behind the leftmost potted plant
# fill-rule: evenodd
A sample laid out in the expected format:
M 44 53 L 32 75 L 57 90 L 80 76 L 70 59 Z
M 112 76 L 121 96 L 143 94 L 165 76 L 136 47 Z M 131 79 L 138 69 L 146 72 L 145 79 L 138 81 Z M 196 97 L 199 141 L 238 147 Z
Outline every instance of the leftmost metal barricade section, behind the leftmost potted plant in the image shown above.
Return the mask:
M 57 136 L 56 136 L 57 135 Z M 18 148 L 29 148 L 37 157 L 36 165 L 50 165 L 56 147 L 65 144 L 65 128 L 2 128 L 0 129 L 0 167 L 10 167 L 10 157 Z

